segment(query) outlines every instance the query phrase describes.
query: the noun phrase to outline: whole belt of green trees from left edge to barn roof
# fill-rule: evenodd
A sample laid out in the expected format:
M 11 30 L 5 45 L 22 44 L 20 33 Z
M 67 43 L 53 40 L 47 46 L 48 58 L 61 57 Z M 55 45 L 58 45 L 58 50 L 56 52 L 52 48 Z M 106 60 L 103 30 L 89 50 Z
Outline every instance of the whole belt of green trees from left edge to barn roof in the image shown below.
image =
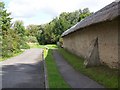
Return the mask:
M 26 42 L 39 44 L 62 43 L 61 34 L 92 13 L 88 8 L 74 12 L 63 12 L 51 22 L 42 25 L 28 25 L 22 21 L 11 23 L 10 13 L 5 10 L 4 3 L 0 2 L 0 44 L 3 57 L 12 56 L 21 49 L 29 48 Z

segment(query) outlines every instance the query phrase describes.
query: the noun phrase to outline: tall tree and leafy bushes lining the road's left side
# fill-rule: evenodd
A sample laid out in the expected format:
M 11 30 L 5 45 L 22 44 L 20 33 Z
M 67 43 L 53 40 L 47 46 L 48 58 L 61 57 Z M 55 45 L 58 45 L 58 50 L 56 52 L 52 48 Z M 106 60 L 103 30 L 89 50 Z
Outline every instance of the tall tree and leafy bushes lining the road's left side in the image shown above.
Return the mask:
M 21 49 L 29 48 L 25 40 L 25 27 L 22 21 L 16 21 L 13 26 L 10 13 L 4 8 L 4 3 L 0 2 L 0 42 L 3 58 L 11 57 Z

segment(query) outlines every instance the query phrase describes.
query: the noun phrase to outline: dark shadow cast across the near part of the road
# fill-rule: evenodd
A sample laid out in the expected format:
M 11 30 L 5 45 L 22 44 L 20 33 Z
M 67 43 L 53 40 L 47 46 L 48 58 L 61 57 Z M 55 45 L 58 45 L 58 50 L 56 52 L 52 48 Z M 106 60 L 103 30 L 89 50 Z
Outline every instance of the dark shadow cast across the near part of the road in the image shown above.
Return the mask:
M 43 61 L 3 65 L 2 88 L 44 88 Z

